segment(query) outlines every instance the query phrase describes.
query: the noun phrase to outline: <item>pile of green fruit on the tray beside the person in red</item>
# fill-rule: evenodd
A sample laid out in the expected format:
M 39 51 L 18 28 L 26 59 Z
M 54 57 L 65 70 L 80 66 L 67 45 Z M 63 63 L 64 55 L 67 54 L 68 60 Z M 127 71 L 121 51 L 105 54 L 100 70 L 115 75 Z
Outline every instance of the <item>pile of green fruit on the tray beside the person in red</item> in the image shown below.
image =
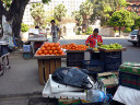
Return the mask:
M 100 47 L 104 49 L 121 49 L 122 48 L 122 46 L 117 43 L 109 44 L 109 45 L 101 45 Z

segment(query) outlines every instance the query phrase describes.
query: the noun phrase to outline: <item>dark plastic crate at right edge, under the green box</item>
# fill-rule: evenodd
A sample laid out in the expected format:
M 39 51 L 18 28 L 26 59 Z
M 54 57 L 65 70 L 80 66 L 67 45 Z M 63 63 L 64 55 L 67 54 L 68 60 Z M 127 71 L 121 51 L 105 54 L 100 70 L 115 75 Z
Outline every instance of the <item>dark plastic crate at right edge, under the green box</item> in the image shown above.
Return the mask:
M 140 75 L 119 71 L 119 84 L 140 90 Z

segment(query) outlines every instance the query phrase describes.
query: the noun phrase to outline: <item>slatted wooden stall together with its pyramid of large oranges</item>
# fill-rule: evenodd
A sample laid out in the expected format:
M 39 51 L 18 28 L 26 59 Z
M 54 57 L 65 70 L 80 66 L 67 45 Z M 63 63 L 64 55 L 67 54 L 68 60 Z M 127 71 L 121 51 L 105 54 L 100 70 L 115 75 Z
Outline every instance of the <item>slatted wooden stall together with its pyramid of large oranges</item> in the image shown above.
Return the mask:
M 47 49 L 45 49 L 47 48 Z M 39 83 L 47 82 L 49 74 L 61 67 L 61 58 L 66 58 L 59 43 L 52 45 L 52 43 L 44 43 L 42 47 L 36 51 L 34 58 L 38 62 Z

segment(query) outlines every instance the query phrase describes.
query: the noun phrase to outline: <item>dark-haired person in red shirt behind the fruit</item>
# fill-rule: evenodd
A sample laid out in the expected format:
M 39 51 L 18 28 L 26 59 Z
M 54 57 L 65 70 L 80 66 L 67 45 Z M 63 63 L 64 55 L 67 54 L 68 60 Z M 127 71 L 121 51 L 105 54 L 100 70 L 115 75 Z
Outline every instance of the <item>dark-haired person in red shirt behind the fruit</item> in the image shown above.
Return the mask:
M 90 44 L 90 47 L 95 48 L 97 45 L 96 43 L 103 43 L 102 36 L 98 35 L 98 28 L 95 28 L 93 34 L 88 37 L 85 45 L 89 46 Z

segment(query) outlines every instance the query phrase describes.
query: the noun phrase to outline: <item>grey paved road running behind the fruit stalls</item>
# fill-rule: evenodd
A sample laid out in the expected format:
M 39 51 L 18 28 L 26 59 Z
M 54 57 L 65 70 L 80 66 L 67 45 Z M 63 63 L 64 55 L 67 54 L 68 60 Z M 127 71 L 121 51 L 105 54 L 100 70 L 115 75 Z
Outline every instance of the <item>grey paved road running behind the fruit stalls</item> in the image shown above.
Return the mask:
M 61 44 L 84 44 L 85 39 L 61 39 Z M 133 61 L 133 62 L 140 62 L 140 46 L 133 46 L 132 44 L 128 43 L 126 38 L 109 38 L 109 39 L 103 39 L 104 44 L 114 44 L 118 43 L 122 45 L 124 47 L 127 47 L 127 51 L 122 51 L 122 62 L 124 61 Z

